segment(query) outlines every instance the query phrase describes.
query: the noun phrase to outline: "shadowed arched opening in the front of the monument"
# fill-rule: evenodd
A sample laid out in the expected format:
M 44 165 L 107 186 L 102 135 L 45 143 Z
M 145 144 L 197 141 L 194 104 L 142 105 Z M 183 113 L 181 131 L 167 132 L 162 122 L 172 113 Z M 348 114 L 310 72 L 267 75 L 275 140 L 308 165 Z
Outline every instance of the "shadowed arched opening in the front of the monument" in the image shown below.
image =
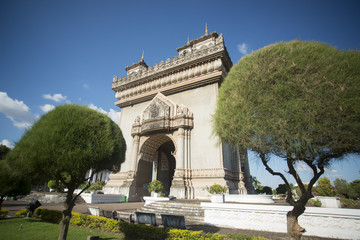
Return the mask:
M 176 168 L 175 144 L 165 134 L 149 137 L 139 151 L 135 188 L 137 198 L 150 196 L 148 184 L 157 179 L 164 185 L 163 193 L 168 196 Z

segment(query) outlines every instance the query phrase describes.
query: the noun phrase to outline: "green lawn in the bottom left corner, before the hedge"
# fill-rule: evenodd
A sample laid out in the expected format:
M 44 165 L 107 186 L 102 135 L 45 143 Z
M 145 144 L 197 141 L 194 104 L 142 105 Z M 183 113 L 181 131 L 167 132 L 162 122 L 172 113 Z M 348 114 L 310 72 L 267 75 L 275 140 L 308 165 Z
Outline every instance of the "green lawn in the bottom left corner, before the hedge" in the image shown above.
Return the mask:
M 21 230 L 19 231 L 20 225 Z M 1 240 L 56 240 L 58 238 L 60 226 L 58 224 L 41 222 L 34 219 L 11 218 L 0 220 L 0 239 Z M 100 239 L 117 240 L 123 239 L 119 236 L 104 234 L 101 232 L 83 229 L 79 227 L 69 227 L 69 240 L 84 240 L 87 236 L 98 235 Z

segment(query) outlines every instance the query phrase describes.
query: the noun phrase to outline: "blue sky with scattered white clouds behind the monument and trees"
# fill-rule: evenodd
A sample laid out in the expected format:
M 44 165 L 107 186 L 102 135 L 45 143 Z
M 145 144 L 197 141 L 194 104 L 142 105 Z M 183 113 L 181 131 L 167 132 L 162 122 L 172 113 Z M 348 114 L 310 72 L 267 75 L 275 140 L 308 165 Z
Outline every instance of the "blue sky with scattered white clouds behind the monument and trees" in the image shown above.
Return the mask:
M 113 75 L 138 62 L 177 55 L 187 38 L 223 33 L 233 63 L 271 43 L 293 39 L 360 49 L 359 1 L 55 1 L 0 0 L 0 143 L 13 146 L 26 127 L 53 107 L 82 104 L 112 117 Z M 263 185 L 281 180 L 250 154 Z M 359 179 L 359 158 L 326 172 Z M 274 164 L 282 170 L 281 161 Z M 303 176 L 307 169 L 298 167 Z

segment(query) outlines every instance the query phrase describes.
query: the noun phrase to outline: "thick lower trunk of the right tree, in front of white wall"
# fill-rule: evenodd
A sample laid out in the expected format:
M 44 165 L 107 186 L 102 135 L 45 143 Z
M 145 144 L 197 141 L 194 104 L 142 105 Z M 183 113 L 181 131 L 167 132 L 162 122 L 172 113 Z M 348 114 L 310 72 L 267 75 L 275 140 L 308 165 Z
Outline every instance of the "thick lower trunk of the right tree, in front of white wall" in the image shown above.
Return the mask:
M 299 225 L 298 217 L 305 212 L 305 206 L 294 206 L 293 210 L 287 213 L 287 231 L 290 240 L 300 240 L 305 229 Z

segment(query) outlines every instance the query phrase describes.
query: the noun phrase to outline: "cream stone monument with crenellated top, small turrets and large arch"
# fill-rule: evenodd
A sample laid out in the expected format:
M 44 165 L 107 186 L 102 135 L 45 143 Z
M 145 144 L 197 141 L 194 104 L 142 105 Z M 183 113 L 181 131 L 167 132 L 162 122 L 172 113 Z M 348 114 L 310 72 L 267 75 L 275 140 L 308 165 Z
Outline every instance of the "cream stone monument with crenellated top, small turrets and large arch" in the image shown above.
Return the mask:
M 105 191 L 139 201 L 157 179 L 166 195 L 180 199 L 205 198 L 214 183 L 246 194 L 251 184 L 246 151 L 213 134 L 218 89 L 232 66 L 223 36 L 206 30 L 177 51 L 154 66 L 142 56 L 125 68 L 127 76 L 114 76 L 127 151 Z

